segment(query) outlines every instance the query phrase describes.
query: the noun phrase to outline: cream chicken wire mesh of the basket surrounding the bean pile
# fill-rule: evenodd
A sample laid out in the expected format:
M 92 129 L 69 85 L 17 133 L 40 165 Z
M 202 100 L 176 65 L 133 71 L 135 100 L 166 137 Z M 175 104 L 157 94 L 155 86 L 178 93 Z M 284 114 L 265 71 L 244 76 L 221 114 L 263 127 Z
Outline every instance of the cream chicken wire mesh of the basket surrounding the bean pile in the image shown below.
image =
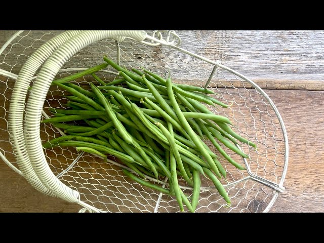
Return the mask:
M 2 50 L 0 68 L 12 74 L 18 74 L 27 58 L 58 33 L 60 31 L 18 33 Z M 201 192 L 196 212 L 263 212 L 269 210 L 280 191 L 276 184 L 282 186 L 287 158 L 285 157 L 284 133 L 279 119 L 262 92 L 232 72 L 215 68 L 211 63 L 168 46 L 147 46 L 130 39 L 121 43 L 104 39 L 89 45 L 68 60 L 56 78 L 98 65 L 103 62 L 103 55 L 115 62 L 119 61 L 127 68 L 144 67 L 164 77 L 170 71 L 175 83 L 204 87 L 209 80 L 208 88 L 219 94 L 215 98 L 230 107 L 217 109 L 209 105 L 207 107 L 215 114 L 229 117 L 233 130 L 256 143 L 257 150 L 239 143 L 242 151 L 250 156 L 250 159 L 244 161 L 239 155 L 222 146 L 235 161 L 240 164 L 246 163 L 250 171 L 237 170 L 221 156 L 220 161 L 227 172 L 227 181 L 223 179 L 221 183 L 231 199 L 231 206 L 226 206 L 226 202 L 218 194 L 211 181 L 201 177 Z M 98 72 L 98 75 L 104 81 L 112 80 L 115 77 L 113 72 L 116 71 L 110 66 L 106 70 L 110 72 Z M 90 82 L 95 82 L 91 75 L 75 80 L 75 84 L 89 90 Z M 15 75 L 9 78 L 0 76 L 0 90 L 2 91 L 0 93 L 0 152 L 4 160 L 7 159 L 17 167 L 8 133 L 8 110 L 14 83 Z M 44 104 L 44 111 L 48 117 L 52 116 L 48 108 L 66 107 L 67 100 L 64 98 L 64 93 L 65 91 L 56 86 L 50 88 Z M 50 124 L 41 125 L 43 142 L 62 135 L 64 135 L 62 131 Z M 206 143 L 213 152 L 219 154 L 210 142 Z M 65 185 L 78 191 L 82 201 L 97 209 L 107 212 L 179 211 L 175 197 L 161 195 L 132 181 L 121 171 L 124 166 L 112 156 L 109 157 L 110 161 L 107 163 L 102 158 L 85 152 L 77 152 L 70 147 L 44 149 L 44 153 L 53 174 Z M 262 179 L 270 184 L 265 185 Z M 154 181 L 152 178 L 149 180 Z M 159 183 L 166 184 L 168 188 L 168 181 L 164 178 L 160 178 Z M 179 184 L 183 192 L 190 196 L 192 190 L 185 186 L 184 181 L 180 180 Z

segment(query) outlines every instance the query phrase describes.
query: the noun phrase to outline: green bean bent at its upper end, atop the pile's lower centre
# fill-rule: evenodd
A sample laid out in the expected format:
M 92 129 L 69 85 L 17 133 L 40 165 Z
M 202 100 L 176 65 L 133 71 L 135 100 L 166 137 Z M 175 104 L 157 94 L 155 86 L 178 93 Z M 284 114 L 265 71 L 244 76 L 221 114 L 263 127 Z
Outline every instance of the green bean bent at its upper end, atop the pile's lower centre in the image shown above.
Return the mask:
M 176 158 L 176 162 L 178 165 L 178 168 L 180 170 L 180 173 L 183 177 L 183 179 L 188 183 L 188 185 L 192 186 L 193 182 L 190 180 L 189 176 L 187 175 L 183 164 L 182 164 L 182 160 L 180 157 L 180 153 L 179 150 L 177 149 L 174 137 L 171 135 L 171 132 L 173 133 L 173 128 L 171 123 L 169 123 L 170 125 L 168 125 L 169 131 L 168 129 L 166 129 L 162 124 L 160 123 L 155 123 L 155 125 L 163 132 L 163 134 L 166 136 L 166 138 L 168 139 L 169 143 L 170 143 L 170 147 L 171 147 L 171 151 L 174 154 L 175 158 Z

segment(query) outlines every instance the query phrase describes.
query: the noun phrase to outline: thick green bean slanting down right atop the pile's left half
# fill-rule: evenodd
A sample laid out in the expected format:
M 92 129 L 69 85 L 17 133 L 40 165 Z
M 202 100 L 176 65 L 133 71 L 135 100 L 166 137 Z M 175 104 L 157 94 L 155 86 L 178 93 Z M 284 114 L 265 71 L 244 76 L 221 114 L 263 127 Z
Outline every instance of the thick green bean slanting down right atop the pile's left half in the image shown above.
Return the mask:
M 97 95 L 99 100 L 101 100 L 101 102 L 103 103 L 103 105 L 108 113 L 108 116 L 112 120 L 115 128 L 119 131 L 120 136 L 125 140 L 125 142 L 132 144 L 133 143 L 132 136 L 127 132 L 127 130 L 125 129 L 123 124 L 121 124 L 120 121 L 117 119 L 116 114 L 113 111 L 113 109 L 111 108 L 110 103 L 106 100 L 104 95 L 101 93 L 101 91 L 96 86 L 94 86 L 93 84 L 90 84 L 90 87 L 93 90 L 93 92 Z

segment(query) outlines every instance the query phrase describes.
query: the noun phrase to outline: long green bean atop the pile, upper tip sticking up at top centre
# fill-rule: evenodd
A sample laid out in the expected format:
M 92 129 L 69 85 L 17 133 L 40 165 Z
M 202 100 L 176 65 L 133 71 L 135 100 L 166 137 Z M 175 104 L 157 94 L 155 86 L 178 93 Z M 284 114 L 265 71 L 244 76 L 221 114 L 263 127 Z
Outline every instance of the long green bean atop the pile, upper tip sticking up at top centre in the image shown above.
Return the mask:
M 184 126 L 184 129 L 187 131 L 188 135 L 191 137 L 191 140 L 196 145 L 198 151 L 206 158 L 207 163 L 212 168 L 212 170 L 215 173 L 217 173 L 217 172 L 219 173 L 214 160 L 212 159 L 211 155 L 208 153 L 208 150 L 206 150 L 206 148 L 201 144 L 201 140 L 193 132 L 192 128 L 188 124 L 188 121 L 182 114 L 182 111 L 180 110 L 179 105 L 176 102 L 176 99 L 174 97 L 173 90 L 172 90 L 172 83 L 171 83 L 170 78 L 167 79 L 166 86 L 167 86 L 170 101 L 172 103 L 173 108 L 175 109 L 175 112 L 177 113 L 177 116 L 179 117 L 179 119 L 181 121 L 182 126 Z

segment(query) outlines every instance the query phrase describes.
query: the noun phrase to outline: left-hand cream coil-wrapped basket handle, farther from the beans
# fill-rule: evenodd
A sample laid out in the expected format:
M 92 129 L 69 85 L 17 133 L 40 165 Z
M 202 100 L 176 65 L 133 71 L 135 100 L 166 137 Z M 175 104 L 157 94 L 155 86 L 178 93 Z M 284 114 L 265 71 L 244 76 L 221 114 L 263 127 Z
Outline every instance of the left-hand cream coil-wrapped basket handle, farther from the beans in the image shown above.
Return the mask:
M 26 180 L 39 192 L 46 195 L 56 196 L 39 180 L 29 159 L 23 134 L 23 118 L 25 99 L 27 96 L 30 80 L 34 76 L 38 67 L 54 52 L 56 48 L 62 45 L 73 34 L 79 31 L 63 32 L 53 37 L 49 42 L 38 48 L 25 62 L 21 68 L 14 85 L 10 107 L 8 131 L 13 151 L 17 160 L 18 168 L 23 173 Z M 42 109 L 43 110 L 43 109 Z M 39 127 L 39 125 L 37 126 Z

